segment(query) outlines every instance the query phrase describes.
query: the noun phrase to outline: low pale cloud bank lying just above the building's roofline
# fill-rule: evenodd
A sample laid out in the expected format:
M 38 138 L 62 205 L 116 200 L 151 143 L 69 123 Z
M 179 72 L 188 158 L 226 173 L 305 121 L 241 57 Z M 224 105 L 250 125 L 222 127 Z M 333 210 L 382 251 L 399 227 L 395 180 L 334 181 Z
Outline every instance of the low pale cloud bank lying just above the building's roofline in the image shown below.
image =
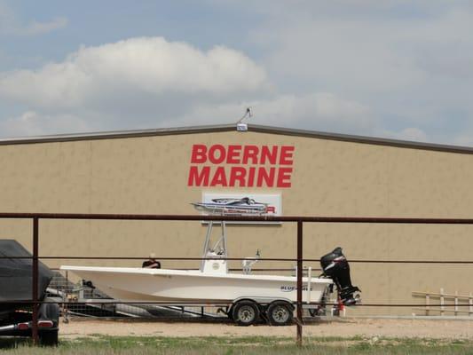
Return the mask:
M 122 117 L 110 110 L 74 110 L 73 114 L 27 111 L 0 121 L 0 137 L 226 124 L 236 122 L 248 106 L 253 107 L 254 112 L 249 122 L 255 124 L 365 135 L 377 132 L 377 123 L 369 107 L 330 93 L 311 93 L 302 96 L 275 95 L 248 101 L 226 99 L 220 103 L 200 103 L 186 106 L 181 114 L 165 117 L 159 112 L 147 113 L 150 117 L 142 116 L 138 120 Z M 390 132 L 388 135 L 394 138 Z

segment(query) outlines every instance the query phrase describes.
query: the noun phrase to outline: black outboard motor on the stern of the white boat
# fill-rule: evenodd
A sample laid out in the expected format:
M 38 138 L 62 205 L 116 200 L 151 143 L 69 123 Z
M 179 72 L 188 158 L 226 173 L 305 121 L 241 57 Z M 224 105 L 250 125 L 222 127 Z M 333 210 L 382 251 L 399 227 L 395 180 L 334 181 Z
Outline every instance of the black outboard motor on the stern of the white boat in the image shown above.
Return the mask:
M 343 255 L 342 248 L 335 248 L 332 252 L 320 258 L 323 275 L 334 280 L 338 294 L 344 305 L 353 305 L 357 299 L 353 296 L 355 292 L 361 292 L 359 288 L 351 285 L 350 265 Z

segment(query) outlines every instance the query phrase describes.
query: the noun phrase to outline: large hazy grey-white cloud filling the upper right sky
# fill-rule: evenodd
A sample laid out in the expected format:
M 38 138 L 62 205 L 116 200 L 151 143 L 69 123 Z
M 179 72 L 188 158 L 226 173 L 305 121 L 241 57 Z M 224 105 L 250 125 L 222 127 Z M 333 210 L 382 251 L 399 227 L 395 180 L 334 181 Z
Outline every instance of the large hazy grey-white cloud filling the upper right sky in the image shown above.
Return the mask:
M 380 117 L 430 107 L 473 113 L 473 8 L 465 2 L 261 3 L 269 13 L 253 30 L 278 85 L 362 100 Z M 425 110 L 427 111 L 427 110 Z M 413 116 L 404 116 L 409 120 Z M 411 124 L 416 124 L 413 122 Z

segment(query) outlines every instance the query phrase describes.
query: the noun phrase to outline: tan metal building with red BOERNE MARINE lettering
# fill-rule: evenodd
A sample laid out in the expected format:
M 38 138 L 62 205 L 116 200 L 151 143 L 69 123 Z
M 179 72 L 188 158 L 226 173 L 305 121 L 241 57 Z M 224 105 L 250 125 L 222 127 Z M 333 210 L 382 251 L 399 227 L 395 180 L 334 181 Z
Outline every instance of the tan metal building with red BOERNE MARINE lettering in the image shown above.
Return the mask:
M 6 139 L 0 166 L 1 212 L 195 214 L 189 202 L 237 193 L 276 196 L 284 216 L 473 217 L 469 147 L 221 125 Z M 205 231 L 198 222 L 42 220 L 40 253 L 200 257 Z M 471 260 L 472 235 L 469 225 L 304 225 L 304 257 L 342 246 L 349 259 Z M 264 257 L 296 257 L 294 224 L 232 225 L 228 237 L 232 257 L 256 248 Z M 0 220 L 0 238 L 31 248 L 31 221 Z M 86 263 L 138 261 L 47 261 Z M 351 272 L 367 304 L 422 302 L 413 291 L 473 291 L 471 265 L 357 263 Z

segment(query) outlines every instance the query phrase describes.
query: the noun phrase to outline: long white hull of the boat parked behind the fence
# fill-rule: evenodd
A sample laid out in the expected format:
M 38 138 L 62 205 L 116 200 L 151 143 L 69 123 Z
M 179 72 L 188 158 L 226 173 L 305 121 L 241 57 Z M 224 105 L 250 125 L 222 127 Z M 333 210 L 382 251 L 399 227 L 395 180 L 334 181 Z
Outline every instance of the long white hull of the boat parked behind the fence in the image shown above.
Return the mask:
M 121 267 L 61 266 L 74 272 L 108 296 L 127 302 L 230 303 L 241 298 L 281 299 L 296 302 L 296 277 L 212 274 L 200 271 Z M 329 279 L 311 279 L 310 301 L 319 302 Z M 308 301 L 307 278 L 303 278 L 303 301 Z

